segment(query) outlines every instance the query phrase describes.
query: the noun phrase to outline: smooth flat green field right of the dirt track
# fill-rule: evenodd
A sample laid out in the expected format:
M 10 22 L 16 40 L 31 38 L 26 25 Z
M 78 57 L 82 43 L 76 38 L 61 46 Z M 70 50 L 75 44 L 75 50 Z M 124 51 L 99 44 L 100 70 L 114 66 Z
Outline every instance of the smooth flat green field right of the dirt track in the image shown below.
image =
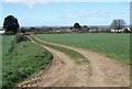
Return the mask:
M 36 34 L 38 38 L 105 53 L 119 62 L 130 63 L 130 34 L 124 33 L 72 33 Z

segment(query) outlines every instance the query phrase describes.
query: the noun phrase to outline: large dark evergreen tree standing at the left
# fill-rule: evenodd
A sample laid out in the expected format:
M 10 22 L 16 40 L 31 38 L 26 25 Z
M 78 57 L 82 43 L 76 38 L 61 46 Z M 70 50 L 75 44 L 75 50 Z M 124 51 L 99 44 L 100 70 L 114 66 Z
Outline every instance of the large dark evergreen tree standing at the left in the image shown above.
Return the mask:
M 4 18 L 3 29 L 6 30 L 6 32 L 12 31 L 14 34 L 16 34 L 19 27 L 20 25 L 16 18 L 14 18 L 13 15 L 8 15 L 7 18 Z

